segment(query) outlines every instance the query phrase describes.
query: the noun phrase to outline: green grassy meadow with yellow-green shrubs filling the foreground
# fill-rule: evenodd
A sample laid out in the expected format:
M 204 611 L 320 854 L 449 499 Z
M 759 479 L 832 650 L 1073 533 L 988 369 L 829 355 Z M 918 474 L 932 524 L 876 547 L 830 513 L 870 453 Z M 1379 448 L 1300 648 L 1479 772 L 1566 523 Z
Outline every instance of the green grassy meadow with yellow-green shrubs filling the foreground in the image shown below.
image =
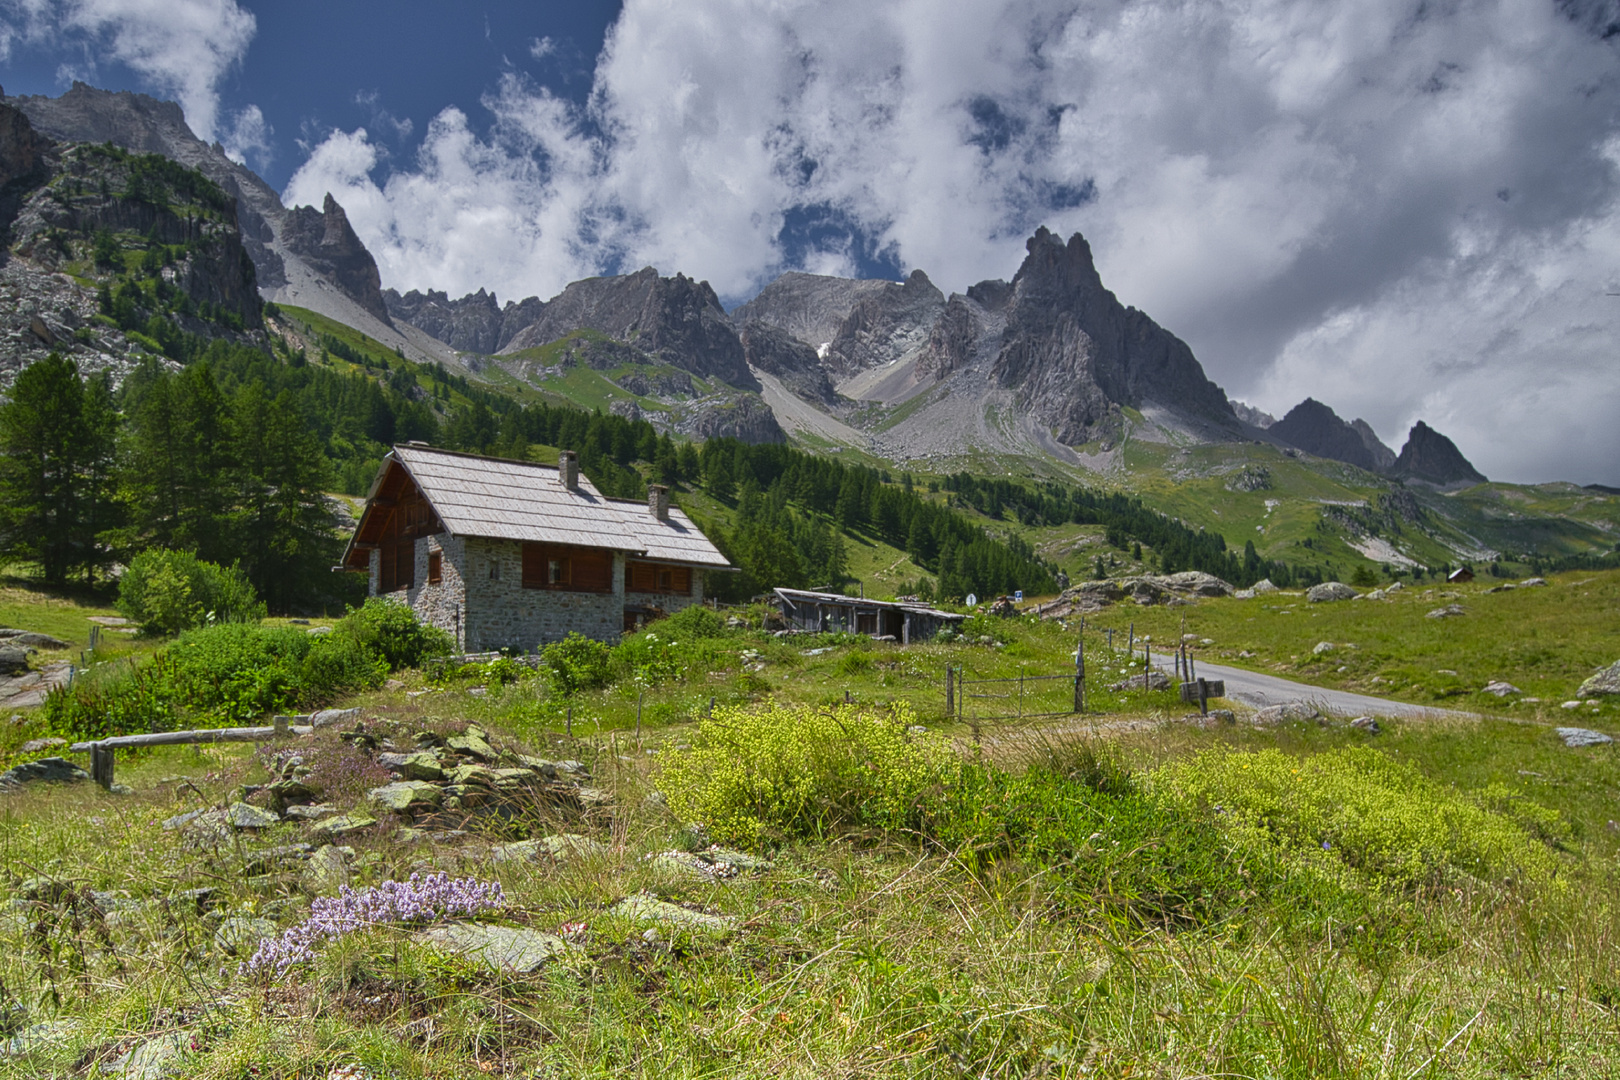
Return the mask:
M 1612 1077 L 1620 753 L 1550 725 L 1620 657 L 1620 573 L 1486 588 L 1110 609 L 1085 623 L 1092 712 L 977 732 L 944 721 L 944 665 L 1071 670 L 1077 622 L 977 617 L 902 649 L 688 619 L 538 670 L 395 670 L 342 701 L 350 738 L 292 746 L 337 811 L 387 779 L 355 733 L 408 748 L 470 724 L 502 761 L 583 763 L 599 792 L 415 821 L 373 806 L 332 840 L 360 891 L 497 881 L 483 923 L 567 942 L 531 973 L 424 941 L 428 916 L 243 972 L 245 928 L 285 933 L 335 891 L 288 847 L 327 840 L 287 821 L 199 845 L 164 821 L 262 801 L 287 746 L 125 753 L 131 793 L 0 795 L 0 1077 L 107 1075 L 154 1040 L 173 1040 L 173 1075 L 232 1080 Z M 1426 617 L 1452 602 L 1466 614 Z M 1103 630 L 1162 644 L 1183 619 L 1207 661 L 1487 714 L 1209 727 L 1170 693 L 1106 688 L 1129 664 Z M 1439 667 L 1460 693 L 1434 696 Z M 1542 703 L 1481 698 L 1487 678 Z M 1576 716 L 1620 733 L 1612 703 Z M 37 711 L 8 725 L 5 764 L 44 730 Z M 501 858 L 556 834 L 599 847 Z M 770 866 L 658 858 L 711 842 Z M 646 894 L 718 921 L 620 907 Z

